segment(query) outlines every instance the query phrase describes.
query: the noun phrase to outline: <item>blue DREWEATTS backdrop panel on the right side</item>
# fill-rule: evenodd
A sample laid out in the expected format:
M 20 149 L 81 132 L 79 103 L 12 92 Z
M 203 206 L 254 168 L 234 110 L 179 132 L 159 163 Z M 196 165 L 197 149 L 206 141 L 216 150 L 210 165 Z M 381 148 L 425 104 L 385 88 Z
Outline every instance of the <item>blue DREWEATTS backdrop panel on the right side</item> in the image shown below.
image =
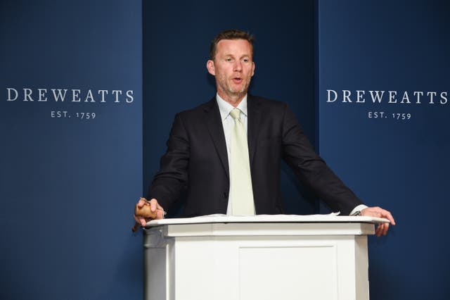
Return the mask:
M 446 1 L 319 1 L 320 153 L 361 199 L 390 209 L 398 223 L 387 237 L 369 239 L 371 299 L 450 296 L 449 8 Z M 385 91 L 381 103 L 370 91 Z

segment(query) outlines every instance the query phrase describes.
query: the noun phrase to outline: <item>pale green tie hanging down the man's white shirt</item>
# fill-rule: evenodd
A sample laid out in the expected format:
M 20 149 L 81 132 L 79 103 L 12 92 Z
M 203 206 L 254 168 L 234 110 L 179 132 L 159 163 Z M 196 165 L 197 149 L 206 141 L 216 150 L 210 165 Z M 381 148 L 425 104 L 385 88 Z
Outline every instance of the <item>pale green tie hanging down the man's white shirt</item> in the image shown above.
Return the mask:
M 247 133 L 240 122 L 240 110 L 233 108 L 230 115 L 234 119 L 230 151 L 231 207 L 233 215 L 255 215 Z

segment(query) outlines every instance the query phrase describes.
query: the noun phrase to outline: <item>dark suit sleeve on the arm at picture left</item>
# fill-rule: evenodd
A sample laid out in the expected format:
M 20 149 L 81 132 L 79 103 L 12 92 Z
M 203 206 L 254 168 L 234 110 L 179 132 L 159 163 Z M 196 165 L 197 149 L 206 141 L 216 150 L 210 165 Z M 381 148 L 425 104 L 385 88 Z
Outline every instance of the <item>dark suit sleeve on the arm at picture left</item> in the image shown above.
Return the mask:
M 160 171 L 148 191 L 148 199 L 157 199 L 168 210 L 181 198 L 188 184 L 189 139 L 180 114 L 175 115 L 167 141 L 167 151 L 160 160 Z

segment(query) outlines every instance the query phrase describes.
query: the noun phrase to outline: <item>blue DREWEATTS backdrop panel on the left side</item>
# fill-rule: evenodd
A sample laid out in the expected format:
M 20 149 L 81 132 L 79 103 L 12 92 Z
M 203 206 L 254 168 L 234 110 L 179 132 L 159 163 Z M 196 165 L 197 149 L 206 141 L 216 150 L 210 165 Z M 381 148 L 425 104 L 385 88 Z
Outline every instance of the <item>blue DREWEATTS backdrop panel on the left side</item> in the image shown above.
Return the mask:
M 141 1 L 0 5 L 0 299 L 141 299 Z

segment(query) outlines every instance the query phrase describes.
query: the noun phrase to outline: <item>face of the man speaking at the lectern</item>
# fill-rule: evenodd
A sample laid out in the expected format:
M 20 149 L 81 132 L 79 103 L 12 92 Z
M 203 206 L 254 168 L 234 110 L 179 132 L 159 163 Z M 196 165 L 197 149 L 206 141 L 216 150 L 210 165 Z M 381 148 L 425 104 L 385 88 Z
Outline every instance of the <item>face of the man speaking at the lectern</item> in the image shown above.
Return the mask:
M 236 98 L 247 94 L 250 79 L 255 73 L 252 46 L 245 39 L 221 39 L 217 43 L 214 61 L 207 61 L 207 69 L 216 77 L 219 96 L 226 101 L 236 101 Z

